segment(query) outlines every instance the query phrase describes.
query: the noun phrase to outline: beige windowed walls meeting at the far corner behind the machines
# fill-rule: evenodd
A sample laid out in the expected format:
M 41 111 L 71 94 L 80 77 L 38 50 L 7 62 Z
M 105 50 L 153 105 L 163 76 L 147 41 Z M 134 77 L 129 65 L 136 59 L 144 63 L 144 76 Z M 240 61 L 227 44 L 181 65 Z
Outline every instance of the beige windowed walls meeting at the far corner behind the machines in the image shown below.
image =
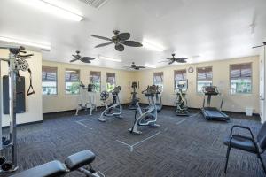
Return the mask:
M 243 62 L 252 62 L 253 67 L 253 90 L 252 94 L 231 95 L 230 81 L 229 81 L 229 65 Z M 233 58 L 227 60 L 220 60 L 215 62 L 207 62 L 191 65 L 176 65 L 158 69 L 148 69 L 138 72 L 127 72 L 123 70 L 113 70 L 100 67 L 92 67 L 87 65 L 71 65 L 64 63 L 56 63 L 43 61 L 43 65 L 58 67 L 58 95 L 57 96 L 43 96 L 43 113 L 45 112 L 59 112 L 66 110 L 73 110 L 79 102 L 79 96 L 67 96 L 65 94 L 65 79 L 64 74 L 66 68 L 79 69 L 81 71 L 81 80 L 88 84 L 90 71 L 101 72 L 101 86 L 102 90 L 106 89 L 106 72 L 116 73 L 117 85 L 122 86 L 121 102 L 129 103 L 130 92 L 129 81 L 139 81 L 140 89 L 138 96 L 141 98 L 141 103 L 147 103 L 145 96 L 141 94 L 147 85 L 153 84 L 153 73 L 163 72 L 164 77 L 164 91 L 162 93 L 162 103 L 164 105 L 175 105 L 176 95 L 174 92 L 174 70 L 187 69 L 192 66 L 193 73 L 187 73 L 189 81 L 189 89 L 187 91 L 188 104 L 190 107 L 199 108 L 203 102 L 203 96 L 196 93 L 196 68 L 212 66 L 213 68 L 213 85 L 218 86 L 222 92 L 224 103 L 223 110 L 234 112 L 245 112 L 246 107 L 253 107 L 254 112 L 259 112 L 259 57 L 248 58 Z M 102 103 L 99 101 L 99 94 L 97 95 L 98 105 Z M 221 101 L 220 96 L 213 96 L 212 104 L 219 106 Z

